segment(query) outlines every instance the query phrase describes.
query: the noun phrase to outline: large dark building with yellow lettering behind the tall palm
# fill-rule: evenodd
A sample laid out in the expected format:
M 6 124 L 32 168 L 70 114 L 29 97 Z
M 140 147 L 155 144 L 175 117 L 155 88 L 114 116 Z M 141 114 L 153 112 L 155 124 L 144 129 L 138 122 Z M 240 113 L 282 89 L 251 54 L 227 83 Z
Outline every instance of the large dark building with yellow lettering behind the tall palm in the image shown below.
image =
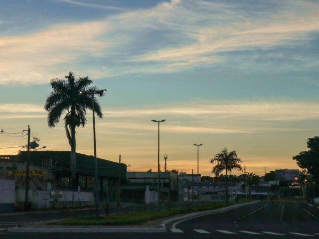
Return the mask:
M 80 201 L 92 204 L 94 157 L 76 154 L 76 183 L 71 185 L 70 151 L 20 151 L 18 155 L 0 155 L 0 179 L 14 180 L 15 202 L 24 201 L 26 160 L 29 154 L 29 200 L 37 208 L 51 207 L 52 193 L 56 191 L 63 194 L 55 201 L 72 201 L 72 206 L 87 206 L 88 203 L 76 204 Z M 98 158 L 101 200 L 115 200 L 119 180 L 123 183 L 126 181 L 126 170 L 123 163 Z

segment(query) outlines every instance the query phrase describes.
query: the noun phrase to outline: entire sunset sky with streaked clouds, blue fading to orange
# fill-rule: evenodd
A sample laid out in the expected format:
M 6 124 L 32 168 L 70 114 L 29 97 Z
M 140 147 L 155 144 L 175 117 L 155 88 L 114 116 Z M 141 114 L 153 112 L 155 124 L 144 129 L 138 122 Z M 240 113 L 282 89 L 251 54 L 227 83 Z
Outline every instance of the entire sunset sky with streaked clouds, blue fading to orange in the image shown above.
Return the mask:
M 236 150 L 248 172 L 298 168 L 319 134 L 316 0 L 0 0 L 0 129 L 30 125 L 47 150 L 70 150 L 63 122 L 47 126 L 51 79 L 69 71 L 107 89 L 98 157 L 211 175 Z M 93 154 L 92 116 L 77 152 Z M 26 138 L 0 134 L 1 147 Z M 0 149 L 15 154 L 19 148 Z M 233 172 L 240 174 L 240 172 Z

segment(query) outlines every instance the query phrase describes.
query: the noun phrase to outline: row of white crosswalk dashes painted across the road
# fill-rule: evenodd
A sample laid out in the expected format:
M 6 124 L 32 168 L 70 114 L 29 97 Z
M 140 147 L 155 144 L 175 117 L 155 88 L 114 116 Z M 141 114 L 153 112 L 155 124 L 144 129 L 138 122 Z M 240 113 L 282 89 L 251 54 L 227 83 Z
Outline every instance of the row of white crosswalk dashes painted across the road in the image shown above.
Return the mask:
M 171 228 L 170 231 L 172 233 L 184 233 L 182 230 L 177 229 L 177 228 Z M 227 234 L 227 235 L 238 235 L 238 234 L 245 234 L 245 235 L 272 235 L 272 236 L 301 236 L 301 237 L 315 237 L 319 236 L 319 233 L 314 233 L 314 234 L 306 234 L 306 233 L 297 233 L 297 232 L 288 232 L 286 234 L 284 233 L 277 233 L 277 232 L 251 232 L 251 231 L 236 231 L 236 232 L 231 232 L 227 230 L 214 230 L 212 232 L 205 231 L 203 229 L 193 229 L 194 232 L 199 233 L 199 234 L 211 234 L 214 232 L 220 233 L 220 234 Z

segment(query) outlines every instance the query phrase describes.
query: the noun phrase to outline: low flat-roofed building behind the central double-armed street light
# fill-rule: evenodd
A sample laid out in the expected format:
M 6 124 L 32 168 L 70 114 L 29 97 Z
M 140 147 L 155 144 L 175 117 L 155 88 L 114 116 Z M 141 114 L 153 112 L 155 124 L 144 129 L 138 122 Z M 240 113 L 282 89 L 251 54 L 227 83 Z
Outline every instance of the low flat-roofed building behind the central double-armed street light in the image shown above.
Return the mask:
M 160 201 L 177 201 L 177 173 L 160 172 Z M 157 202 L 158 172 L 127 172 L 127 185 L 121 188 L 122 198 L 131 198 L 133 192 L 136 201 Z M 150 191 L 152 200 L 146 198 Z

